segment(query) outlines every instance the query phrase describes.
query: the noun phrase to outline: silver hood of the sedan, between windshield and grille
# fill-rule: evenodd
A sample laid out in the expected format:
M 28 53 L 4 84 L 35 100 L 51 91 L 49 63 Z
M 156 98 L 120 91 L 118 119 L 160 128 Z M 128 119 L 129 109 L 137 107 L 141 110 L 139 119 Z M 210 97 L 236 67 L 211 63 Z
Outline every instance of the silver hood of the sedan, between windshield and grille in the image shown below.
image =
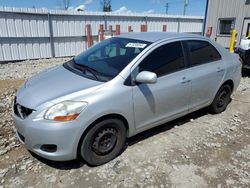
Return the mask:
M 60 65 L 28 79 L 17 92 L 16 101 L 25 107 L 35 109 L 58 97 L 102 84 L 103 82 L 72 73 Z

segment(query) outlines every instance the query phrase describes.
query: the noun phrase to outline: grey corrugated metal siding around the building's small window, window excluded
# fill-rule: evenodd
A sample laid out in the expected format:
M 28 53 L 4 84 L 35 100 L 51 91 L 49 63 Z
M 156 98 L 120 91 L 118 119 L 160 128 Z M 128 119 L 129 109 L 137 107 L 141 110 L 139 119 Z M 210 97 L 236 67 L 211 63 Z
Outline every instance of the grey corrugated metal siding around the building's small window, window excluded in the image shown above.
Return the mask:
M 231 36 L 221 35 L 218 31 L 219 19 L 224 18 L 235 18 L 237 44 L 239 44 L 241 38 L 245 36 L 245 31 L 242 31 L 244 20 L 250 19 L 250 5 L 246 4 L 245 0 L 209 0 L 206 29 L 212 27 L 211 38 L 229 48 Z

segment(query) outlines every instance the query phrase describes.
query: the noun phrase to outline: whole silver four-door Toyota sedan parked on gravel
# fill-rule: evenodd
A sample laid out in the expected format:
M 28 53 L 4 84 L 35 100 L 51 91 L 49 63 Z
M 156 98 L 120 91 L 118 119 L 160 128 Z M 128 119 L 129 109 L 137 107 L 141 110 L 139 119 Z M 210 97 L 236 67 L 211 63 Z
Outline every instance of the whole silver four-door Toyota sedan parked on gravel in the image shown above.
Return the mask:
M 224 111 L 240 78 L 239 57 L 205 37 L 130 33 L 28 79 L 13 119 L 28 150 L 100 165 L 146 129 L 204 107 Z

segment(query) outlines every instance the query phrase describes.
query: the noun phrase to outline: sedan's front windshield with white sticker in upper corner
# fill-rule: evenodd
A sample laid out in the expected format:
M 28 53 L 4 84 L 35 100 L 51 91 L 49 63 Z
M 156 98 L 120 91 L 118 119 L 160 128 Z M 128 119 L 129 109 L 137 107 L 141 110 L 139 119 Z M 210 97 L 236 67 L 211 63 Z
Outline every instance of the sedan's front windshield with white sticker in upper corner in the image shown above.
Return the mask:
M 118 75 L 150 43 L 127 38 L 110 38 L 79 54 L 70 62 L 83 76 L 109 81 Z

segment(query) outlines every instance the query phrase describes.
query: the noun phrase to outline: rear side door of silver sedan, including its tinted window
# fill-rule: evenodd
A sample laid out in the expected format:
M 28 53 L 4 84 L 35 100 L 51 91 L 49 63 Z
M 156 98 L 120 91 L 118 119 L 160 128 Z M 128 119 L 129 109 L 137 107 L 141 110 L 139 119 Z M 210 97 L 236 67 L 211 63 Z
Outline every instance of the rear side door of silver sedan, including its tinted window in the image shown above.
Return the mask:
M 222 82 L 225 65 L 221 55 L 208 41 L 187 40 L 191 79 L 190 110 L 208 105 Z

